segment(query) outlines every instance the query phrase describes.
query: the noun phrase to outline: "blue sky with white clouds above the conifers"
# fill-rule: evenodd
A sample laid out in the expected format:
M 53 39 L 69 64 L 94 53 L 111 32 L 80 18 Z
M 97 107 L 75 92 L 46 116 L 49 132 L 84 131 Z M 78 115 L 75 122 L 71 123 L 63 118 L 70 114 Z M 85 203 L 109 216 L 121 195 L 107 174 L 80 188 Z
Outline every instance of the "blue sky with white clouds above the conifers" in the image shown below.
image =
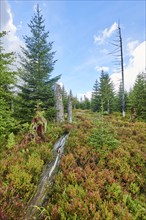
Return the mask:
M 45 19 L 49 41 L 54 41 L 56 62 L 52 76 L 61 74 L 60 82 L 74 95 L 90 95 L 101 69 L 108 71 L 115 85 L 120 73 L 109 52 L 114 48 L 109 42 L 116 39 L 116 23 L 122 29 L 126 89 L 134 83 L 136 75 L 146 65 L 146 3 L 143 0 L 123 1 L 30 1 L 2 0 L 1 21 L 3 29 L 12 35 L 7 47 L 19 52 L 24 35 L 29 35 L 27 24 L 39 4 Z

